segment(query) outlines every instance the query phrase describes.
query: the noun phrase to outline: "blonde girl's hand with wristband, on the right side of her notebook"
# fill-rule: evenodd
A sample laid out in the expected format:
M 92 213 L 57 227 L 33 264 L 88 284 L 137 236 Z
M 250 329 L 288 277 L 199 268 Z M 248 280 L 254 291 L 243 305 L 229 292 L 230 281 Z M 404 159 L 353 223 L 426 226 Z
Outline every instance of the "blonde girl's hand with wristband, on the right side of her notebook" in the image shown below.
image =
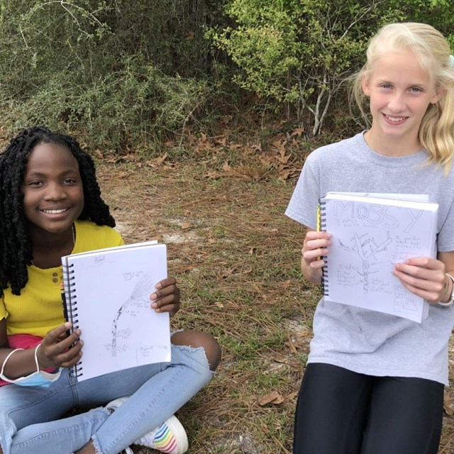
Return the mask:
M 404 263 L 396 263 L 393 274 L 406 289 L 429 303 L 438 303 L 445 297 L 445 264 L 441 260 L 409 258 Z

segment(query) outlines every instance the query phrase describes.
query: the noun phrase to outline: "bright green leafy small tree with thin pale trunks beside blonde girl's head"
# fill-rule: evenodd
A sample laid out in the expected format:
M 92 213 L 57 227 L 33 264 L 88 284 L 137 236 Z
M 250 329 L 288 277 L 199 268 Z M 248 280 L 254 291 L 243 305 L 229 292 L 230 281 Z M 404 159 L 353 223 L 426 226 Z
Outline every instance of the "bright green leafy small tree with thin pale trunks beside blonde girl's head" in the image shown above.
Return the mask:
M 225 13 L 234 25 L 206 35 L 238 66 L 233 80 L 275 106 L 292 106 L 299 121 L 309 111 L 306 132 L 316 135 L 380 26 L 426 21 L 448 35 L 452 6 L 448 0 L 230 0 Z

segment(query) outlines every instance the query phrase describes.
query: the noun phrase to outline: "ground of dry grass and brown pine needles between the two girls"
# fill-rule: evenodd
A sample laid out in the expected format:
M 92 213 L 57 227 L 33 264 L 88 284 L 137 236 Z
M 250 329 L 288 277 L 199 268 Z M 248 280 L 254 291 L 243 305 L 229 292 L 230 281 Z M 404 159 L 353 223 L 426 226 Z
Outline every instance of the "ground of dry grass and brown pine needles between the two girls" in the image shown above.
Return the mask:
M 292 452 L 294 405 L 320 293 L 299 272 L 304 231 L 284 216 L 295 179 L 279 179 L 282 166 L 262 158 L 248 155 L 238 175 L 219 155 L 98 165 L 126 241 L 168 245 L 169 271 L 182 289 L 173 327 L 209 331 L 223 349 L 214 380 L 178 414 L 189 454 Z M 450 399 L 448 390 L 448 412 Z M 454 454 L 448 414 L 440 453 Z

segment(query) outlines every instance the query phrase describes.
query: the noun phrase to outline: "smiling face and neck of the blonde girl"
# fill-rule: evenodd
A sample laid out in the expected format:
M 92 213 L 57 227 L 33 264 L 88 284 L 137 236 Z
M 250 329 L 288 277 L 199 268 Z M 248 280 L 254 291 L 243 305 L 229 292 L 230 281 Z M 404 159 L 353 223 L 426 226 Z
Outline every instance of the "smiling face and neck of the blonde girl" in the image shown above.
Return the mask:
M 429 104 L 441 98 L 428 72 L 409 51 L 378 58 L 362 79 L 370 97 L 372 127 L 365 138 L 378 153 L 409 155 L 421 149 L 418 134 Z

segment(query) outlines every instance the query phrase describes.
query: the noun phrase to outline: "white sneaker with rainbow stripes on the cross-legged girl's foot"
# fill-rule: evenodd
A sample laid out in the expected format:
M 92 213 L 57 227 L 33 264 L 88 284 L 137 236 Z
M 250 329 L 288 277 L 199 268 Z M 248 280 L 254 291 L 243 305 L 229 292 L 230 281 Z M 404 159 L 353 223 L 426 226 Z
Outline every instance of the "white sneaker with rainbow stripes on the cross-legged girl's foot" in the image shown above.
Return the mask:
M 183 454 L 189 448 L 186 431 L 176 416 L 170 416 L 158 428 L 146 433 L 134 444 L 167 454 Z

